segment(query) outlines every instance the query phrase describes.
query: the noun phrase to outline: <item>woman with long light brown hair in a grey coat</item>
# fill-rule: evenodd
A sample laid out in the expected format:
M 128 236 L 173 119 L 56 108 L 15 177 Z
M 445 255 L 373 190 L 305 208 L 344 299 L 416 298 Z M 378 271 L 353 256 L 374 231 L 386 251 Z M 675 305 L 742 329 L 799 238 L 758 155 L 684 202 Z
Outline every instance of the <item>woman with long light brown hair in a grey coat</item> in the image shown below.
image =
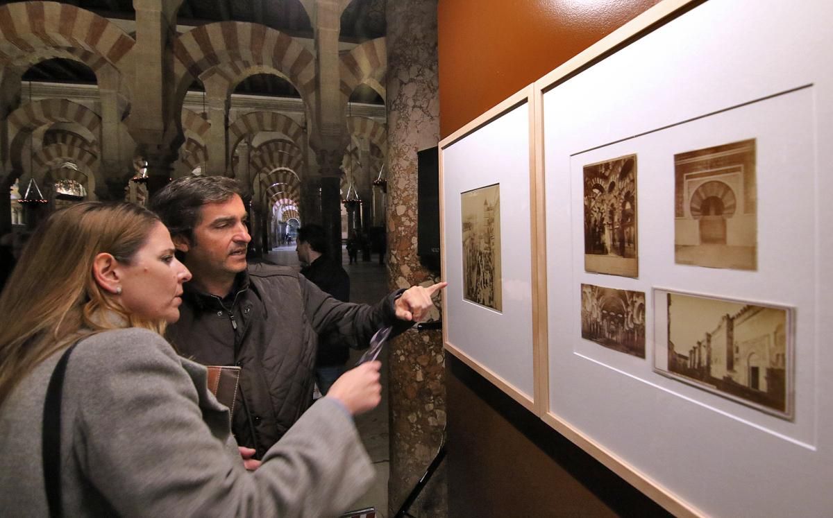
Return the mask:
M 0 509 L 47 516 L 42 418 L 67 347 L 65 516 L 333 516 L 373 468 L 351 415 L 379 401 L 379 364 L 347 372 L 249 473 L 206 370 L 162 339 L 191 274 L 155 215 L 127 203 L 54 213 L 0 296 Z M 249 461 L 252 462 L 252 461 Z

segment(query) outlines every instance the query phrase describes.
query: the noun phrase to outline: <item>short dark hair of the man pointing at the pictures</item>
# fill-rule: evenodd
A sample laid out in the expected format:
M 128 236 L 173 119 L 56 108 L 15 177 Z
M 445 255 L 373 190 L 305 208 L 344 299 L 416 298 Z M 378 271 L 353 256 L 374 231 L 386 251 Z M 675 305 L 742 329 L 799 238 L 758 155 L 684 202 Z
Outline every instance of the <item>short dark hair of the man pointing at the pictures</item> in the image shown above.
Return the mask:
M 147 208 L 157 213 L 171 237 L 185 237 L 193 243 L 194 227 L 200 223 L 200 207 L 227 202 L 235 194 L 243 197 L 240 183 L 232 178 L 184 177 L 154 194 Z

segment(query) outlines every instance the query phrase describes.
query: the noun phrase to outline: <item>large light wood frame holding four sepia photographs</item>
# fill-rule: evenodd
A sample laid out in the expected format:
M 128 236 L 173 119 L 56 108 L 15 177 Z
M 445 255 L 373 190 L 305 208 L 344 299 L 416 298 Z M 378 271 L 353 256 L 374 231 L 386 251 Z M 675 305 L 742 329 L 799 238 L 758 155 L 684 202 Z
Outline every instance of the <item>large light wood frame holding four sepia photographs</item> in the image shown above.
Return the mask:
M 833 3 L 655 7 L 536 82 L 542 419 L 674 516 L 827 516 Z

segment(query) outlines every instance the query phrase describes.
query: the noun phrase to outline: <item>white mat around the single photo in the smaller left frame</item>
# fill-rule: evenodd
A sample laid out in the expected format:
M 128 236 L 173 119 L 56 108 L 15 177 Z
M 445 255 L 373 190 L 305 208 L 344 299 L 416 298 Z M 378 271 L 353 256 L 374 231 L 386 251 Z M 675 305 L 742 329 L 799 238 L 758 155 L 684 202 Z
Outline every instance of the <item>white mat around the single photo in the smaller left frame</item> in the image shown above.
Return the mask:
M 442 149 L 441 217 L 447 339 L 532 401 L 529 109 L 523 102 Z M 502 311 L 463 298 L 461 193 L 494 184 L 500 184 Z

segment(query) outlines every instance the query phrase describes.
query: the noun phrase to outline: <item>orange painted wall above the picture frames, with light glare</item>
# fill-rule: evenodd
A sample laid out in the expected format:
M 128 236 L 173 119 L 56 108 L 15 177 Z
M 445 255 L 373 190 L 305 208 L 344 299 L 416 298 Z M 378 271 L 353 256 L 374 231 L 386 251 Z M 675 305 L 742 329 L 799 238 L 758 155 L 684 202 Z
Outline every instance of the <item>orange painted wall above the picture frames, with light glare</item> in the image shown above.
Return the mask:
M 440 137 L 659 0 L 439 0 Z

